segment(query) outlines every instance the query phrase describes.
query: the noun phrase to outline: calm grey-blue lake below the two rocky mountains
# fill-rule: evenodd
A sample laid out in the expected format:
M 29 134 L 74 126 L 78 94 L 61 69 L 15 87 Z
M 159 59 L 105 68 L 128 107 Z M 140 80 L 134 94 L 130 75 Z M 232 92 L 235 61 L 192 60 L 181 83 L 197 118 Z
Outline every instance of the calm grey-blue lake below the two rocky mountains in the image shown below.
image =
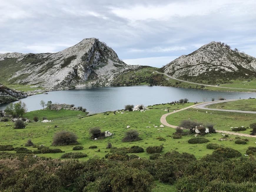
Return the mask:
M 82 106 L 90 113 L 114 111 L 127 104 L 143 104 L 144 106 L 169 103 L 181 98 L 189 102 L 211 101 L 212 98 L 238 99 L 256 98 L 256 93 L 206 91 L 200 89 L 184 89 L 164 86 L 126 86 L 126 87 L 93 87 L 67 91 L 51 91 L 20 99 L 26 103 L 28 111 L 41 109 L 39 102 L 67 103 Z M 15 103 L 15 102 L 14 102 Z M 0 105 L 0 110 L 8 104 Z

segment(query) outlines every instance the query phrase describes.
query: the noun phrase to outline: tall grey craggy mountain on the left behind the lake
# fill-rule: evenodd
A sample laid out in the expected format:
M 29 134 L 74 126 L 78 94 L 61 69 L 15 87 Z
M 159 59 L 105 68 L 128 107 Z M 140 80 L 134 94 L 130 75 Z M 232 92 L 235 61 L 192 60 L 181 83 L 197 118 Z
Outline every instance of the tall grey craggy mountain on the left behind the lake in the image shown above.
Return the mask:
M 138 67 L 125 64 L 104 42 L 89 38 L 57 53 L 0 54 L 0 82 L 48 89 L 109 86 L 119 74 Z

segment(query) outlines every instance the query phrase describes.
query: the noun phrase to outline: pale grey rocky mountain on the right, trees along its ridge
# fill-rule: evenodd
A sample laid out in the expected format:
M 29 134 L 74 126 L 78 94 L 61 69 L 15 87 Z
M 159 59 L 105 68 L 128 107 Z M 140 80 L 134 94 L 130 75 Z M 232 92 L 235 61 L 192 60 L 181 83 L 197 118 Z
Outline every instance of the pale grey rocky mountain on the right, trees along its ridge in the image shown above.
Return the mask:
M 218 84 L 255 77 L 256 59 L 213 41 L 180 56 L 162 67 L 162 71 L 177 79 Z

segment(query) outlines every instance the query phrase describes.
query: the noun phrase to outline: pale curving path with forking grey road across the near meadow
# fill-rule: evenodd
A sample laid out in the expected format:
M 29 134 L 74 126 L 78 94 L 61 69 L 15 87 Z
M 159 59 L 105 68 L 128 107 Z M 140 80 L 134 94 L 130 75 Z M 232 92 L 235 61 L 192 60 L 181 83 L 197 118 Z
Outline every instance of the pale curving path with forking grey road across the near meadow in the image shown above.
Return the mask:
M 255 111 L 238 111 L 238 110 L 226 110 L 226 109 L 210 109 L 210 108 L 204 108 L 205 106 L 207 105 L 211 105 L 211 104 L 214 104 L 214 103 L 222 103 L 222 102 L 228 102 L 228 101 L 236 101 L 238 99 L 230 99 L 230 100 L 225 100 L 225 101 L 210 101 L 210 102 L 205 102 L 205 103 L 197 103 L 195 105 L 192 105 L 192 106 L 189 106 L 189 107 L 185 107 L 185 108 L 182 108 L 182 109 L 179 109 L 177 111 L 173 111 L 173 112 L 170 112 L 170 113 L 166 113 L 164 115 L 162 115 L 162 117 L 160 118 L 160 122 L 167 126 L 167 127 L 171 127 L 171 128 L 177 128 L 178 126 L 175 126 L 175 125 L 171 125 L 169 123 L 167 123 L 166 121 L 166 117 L 168 115 L 171 115 L 173 113 L 177 113 L 179 111 L 183 111 L 183 110 L 186 110 L 188 108 L 199 108 L 199 109 L 208 109 L 208 110 L 216 110 L 216 111 L 232 111 L 232 112 L 237 112 L 237 113 L 247 113 L 247 112 L 250 112 L 250 113 L 256 113 Z M 204 107 L 203 107 L 204 106 Z M 216 132 L 218 133 L 226 133 L 226 134 L 230 134 L 230 135 L 238 135 L 238 136 L 245 136 L 245 137 L 256 137 L 256 135 L 249 135 L 249 134 L 245 134 L 245 133 L 236 133 L 236 132 L 231 132 L 231 131 L 221 131 L 221 130 L 216 130 Z

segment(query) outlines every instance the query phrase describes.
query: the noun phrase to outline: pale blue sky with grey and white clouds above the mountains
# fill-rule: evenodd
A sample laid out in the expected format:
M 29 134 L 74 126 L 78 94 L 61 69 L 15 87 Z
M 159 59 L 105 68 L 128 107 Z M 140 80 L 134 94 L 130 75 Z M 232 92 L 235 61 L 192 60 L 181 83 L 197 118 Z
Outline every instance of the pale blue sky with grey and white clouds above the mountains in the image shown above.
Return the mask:
M 256 57 L 255 0 L 0 0 L 0 53 L 95 37 L 127 64 L 162 67 L 211 41 Z

